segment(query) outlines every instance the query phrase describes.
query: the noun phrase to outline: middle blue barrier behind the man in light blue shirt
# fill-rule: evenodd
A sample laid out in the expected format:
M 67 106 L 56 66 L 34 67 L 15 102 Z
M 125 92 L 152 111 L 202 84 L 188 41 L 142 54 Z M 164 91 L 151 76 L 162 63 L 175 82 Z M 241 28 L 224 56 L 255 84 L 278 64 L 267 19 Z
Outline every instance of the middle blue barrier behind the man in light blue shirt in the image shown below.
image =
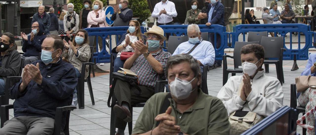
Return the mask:
M 187 26 L 188 25 L 161 25 L 160 27 L 163 29 L 166 34 L 171 34 L 171 35 L 176 35 L 176 36 L 181 36 L 181 35 L 187 35 Z M 215 49 L 215 59 L 216 60 L 222 60 L 224 55 L 224 49 L 229 48 L 228 47 L 228 38 L 229 38 L 229 32 L 226 32 L 226 28 L 221 25 L 211 25 L 211 26 L 206 26 L 206 25 L 198 25 L 200 27 L 201 32 L 208 32 L 214 33 L 215 39 L 216 39 L 216 34 L 219 34 L 221 37 L 221 47 L 216 48 L 216 45 L 214 47 Z M 216 40 L 215 43 L 216 44 Z M 166 44 L 164 44 L 166 47 Z

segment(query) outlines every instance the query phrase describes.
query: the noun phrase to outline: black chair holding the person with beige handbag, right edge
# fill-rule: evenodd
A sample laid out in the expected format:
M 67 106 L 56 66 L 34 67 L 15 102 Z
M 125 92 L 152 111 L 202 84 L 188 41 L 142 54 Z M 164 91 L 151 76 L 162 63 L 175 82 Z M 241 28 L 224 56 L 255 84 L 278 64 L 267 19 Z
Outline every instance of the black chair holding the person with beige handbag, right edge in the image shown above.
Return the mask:
M 296 97 L 296 85 L 291 84 L 291 99 L 290 99 L 290 107 L 296 109 L 296 118 L 298 119 L 298 115 L 302 113 L 305 114 L 305 107 L 297 106 L 297 97 Z M 306 124 L 306 120 L 303 120 L 303 124 Z M 313 126 L 313 125 L 311 125 Z M 306 128 L 303 128 L 303 135 L 306 135 Z

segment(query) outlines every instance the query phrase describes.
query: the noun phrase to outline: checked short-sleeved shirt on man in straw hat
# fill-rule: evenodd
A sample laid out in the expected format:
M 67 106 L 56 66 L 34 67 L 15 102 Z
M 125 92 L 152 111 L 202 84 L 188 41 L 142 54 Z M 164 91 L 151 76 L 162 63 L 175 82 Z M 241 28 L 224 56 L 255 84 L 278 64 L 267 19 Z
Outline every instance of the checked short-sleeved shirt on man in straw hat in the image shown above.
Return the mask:
M 138 85 L 154 89 L 156 81 L 166 80 L 167 59 L 171 54 L 162 50 L 150 54 L 161 63 L 163 74 L 158 74 L 143 55 L 138 56 L 130 70 L 138 75 Z

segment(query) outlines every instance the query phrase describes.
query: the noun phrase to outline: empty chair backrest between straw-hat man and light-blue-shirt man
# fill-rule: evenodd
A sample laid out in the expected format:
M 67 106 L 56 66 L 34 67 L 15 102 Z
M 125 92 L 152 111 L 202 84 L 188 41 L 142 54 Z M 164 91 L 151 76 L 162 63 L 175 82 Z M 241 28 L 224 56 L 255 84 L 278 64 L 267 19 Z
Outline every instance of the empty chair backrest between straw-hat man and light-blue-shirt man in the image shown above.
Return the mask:
M 169 36 L 168 39 L 168 52 L 173 54 L 179 44 L 188 41 L 188 36 Z

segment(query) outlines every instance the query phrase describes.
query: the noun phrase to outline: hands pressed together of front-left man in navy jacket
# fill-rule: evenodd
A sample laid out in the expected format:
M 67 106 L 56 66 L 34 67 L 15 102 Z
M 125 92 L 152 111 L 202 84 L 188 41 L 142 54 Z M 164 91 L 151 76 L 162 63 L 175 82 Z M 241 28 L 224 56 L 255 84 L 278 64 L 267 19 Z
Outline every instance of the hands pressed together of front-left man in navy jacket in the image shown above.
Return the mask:
M 40 65 L 39 63 L 35 65 L 27 64 L 24 67 L 24 71 L 22 74 L 22 83 L 20 85 L 20 91 L 23 91 L 26 86 L 33 80 L 38 85 L 42 84 L 42 75 L 40 74 Z

